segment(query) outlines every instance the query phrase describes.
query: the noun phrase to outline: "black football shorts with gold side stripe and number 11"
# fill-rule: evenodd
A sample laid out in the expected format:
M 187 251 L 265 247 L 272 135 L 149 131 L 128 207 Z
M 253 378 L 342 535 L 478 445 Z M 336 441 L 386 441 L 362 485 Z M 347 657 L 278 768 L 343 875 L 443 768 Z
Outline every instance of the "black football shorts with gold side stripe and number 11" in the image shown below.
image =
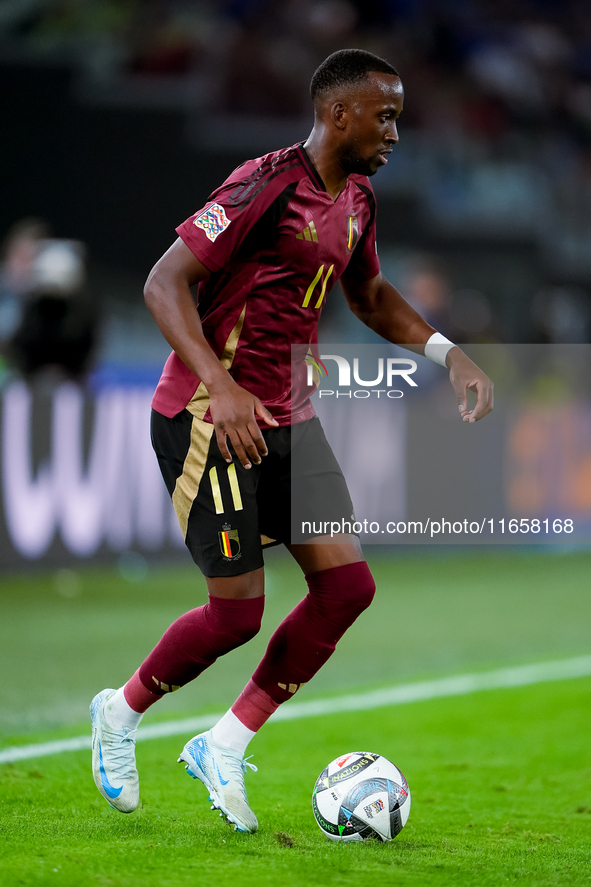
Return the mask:
M 263 566 L 263 548 L 305 542 L 325 535 L 327 523 L 353 519 L 345 478 L 318 418 L 262 433 L 269 453 L 246 469 L 235 455 L 224 460 L 210 422 L 188 410 L 172 419 L 152 411 L 160 469 L 205 576 L 249 573 Z

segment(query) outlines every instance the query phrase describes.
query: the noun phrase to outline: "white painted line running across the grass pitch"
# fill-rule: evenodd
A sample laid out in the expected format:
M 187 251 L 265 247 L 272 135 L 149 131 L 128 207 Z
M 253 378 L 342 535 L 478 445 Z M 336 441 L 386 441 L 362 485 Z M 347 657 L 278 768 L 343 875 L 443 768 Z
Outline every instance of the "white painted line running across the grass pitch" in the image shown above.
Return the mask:
M 346 711 L 366 711 L 389 705 L 403 705 L 407 702 L 421 702 L 428 699 L 441 699 L 449 696 L 466 696 L 481 690 L 505 690 L 511 687 L 526 687 L 545 681 L 565 681 L 570 678 L 585 678 L 591 675 L 591 656 L 576 659 L 560 659 L 554 662 L 539 662 L 534 665 L 518 665 L 514 668 L 499 668 L 482 674 L 458 675 L 440 678 L 435 681 L 420 681 L 414 684 L 401 684 L 384 690 L 371 690 L 349 696 L 335 696 L 330 699 L 315 699 L 310 702 L 290 702 L 279 708 L 271 717 L 272 721 L 295 721 L 320 715 L 337 714 Z M 167 736 L 195 734 L 207 730 L 216 723 L 222 713 L 203 715 L 198 718 L 185 718 L 179 721 L 164 721 L 140 727 L 138 742 L 147 739 L 161 739 Z M 90 736 L 75 736 L 72 739 L 56 739 L 54 742 L 41 742 L 35 745 L 21 745 L 0 750 L 0 764 L 24 761 L 28 758 L 41 758 L 57 755 L 64 751 L 80 751 L 91 747 Z

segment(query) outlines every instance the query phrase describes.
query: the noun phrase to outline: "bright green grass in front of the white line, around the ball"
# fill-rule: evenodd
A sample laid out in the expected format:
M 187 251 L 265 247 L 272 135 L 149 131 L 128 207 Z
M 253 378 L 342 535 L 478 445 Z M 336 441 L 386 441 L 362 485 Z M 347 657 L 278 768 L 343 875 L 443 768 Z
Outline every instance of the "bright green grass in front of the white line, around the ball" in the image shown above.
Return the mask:
M 175 764 L 182 739 L 138 746 L 142 807 L 99 797 L 89 753 L 0 768 L 0 873 L 12 885 L 528 885 L 591 882 L 591 679 L 269 724 L 247 777 L 256 835 L 208 810 Z M 392 843 L 341 845 L 314 823 L 310 796 L 329 760 L 385 754 L 412 792 Z

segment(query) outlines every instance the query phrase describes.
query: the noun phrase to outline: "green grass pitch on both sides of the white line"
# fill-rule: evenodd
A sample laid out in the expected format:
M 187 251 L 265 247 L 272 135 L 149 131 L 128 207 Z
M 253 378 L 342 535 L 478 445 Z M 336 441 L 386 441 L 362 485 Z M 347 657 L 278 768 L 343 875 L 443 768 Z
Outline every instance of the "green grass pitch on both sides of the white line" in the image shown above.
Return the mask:
M 301 700 L 589 653 L 589 552 L 368 555 L 378 597 Z M 147 723 L 233 701 L 302 592 L 278 552 L 268 575 L 261 635 Z M 137 583 L 106 569 L 2 580 L 2 746 L 86 732 L 90 697 L 204 599 L 191 568 Z M 96 792 L 89 752 L 0 765 L 0 883 L 589 885 L 590 691 L 581 678 L 271 723 L 249 749 L 253 836 L 209 811 L 176 764 L 183 737 L 138 745 L 142 806 L 129 816 Z M 333 844 L 314 823 L 318 773 L 357 749 L 391 758 L 409 781 L 410 819 L 392 843 Z

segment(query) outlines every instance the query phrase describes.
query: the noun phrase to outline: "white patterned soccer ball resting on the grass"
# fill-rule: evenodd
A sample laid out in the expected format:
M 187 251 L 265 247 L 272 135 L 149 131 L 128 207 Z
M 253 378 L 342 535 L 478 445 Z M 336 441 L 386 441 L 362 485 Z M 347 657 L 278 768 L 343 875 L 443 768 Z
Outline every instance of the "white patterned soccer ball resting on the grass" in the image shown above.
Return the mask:
M 408 783 L 398 767 L 371 752 L 331 761 L 314 786 L 312 809 L 333 841 L 391 841 L 410 813 Z

